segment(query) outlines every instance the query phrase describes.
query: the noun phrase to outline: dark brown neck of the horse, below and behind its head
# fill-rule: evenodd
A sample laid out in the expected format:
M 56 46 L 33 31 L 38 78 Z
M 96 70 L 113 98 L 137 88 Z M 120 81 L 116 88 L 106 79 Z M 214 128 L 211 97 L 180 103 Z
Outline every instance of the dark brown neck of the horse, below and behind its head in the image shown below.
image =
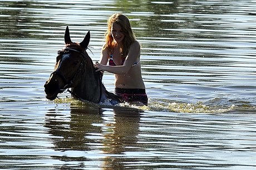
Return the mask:
M 82 100 L 98 103 L 101 97 L 102 85 L 92 61 L 86 61 L 77 86 L 73 87 L 72 92 Z

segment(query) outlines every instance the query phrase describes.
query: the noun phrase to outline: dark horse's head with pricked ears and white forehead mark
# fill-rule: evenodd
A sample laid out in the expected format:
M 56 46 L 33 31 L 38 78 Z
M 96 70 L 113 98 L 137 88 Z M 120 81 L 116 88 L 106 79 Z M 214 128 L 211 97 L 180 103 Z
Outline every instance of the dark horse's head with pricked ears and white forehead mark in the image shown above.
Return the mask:
M 87 32 L 82 42 L 74 43 L 71 41 L 67 26 L 64 38 L 65 48 L 58 51 L 54 71 L 44 86 L 46 98 L 50 100 L 55 99 L 58 93 L 65 91 L 65 89 L 77 86 L 84 65 L 88 59 L 91 60 L 86 52 L 90 42 L 90 31 Z M 91 65 L 90 67 L 93 67 L 93 64 Z

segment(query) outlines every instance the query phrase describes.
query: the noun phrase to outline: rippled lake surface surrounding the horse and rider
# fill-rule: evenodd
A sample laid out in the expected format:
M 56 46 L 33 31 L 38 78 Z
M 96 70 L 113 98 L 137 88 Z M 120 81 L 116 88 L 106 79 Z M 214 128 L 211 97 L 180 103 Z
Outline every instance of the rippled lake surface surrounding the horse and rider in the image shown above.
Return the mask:
M 43 84 L 71 38 L 124 13 L 141 42 L 148 107 L 92 104 Z M 256 169 L 256 2 L 1 1 L 1 169 Z M 114 76 L 104 74 L 114 91 Z

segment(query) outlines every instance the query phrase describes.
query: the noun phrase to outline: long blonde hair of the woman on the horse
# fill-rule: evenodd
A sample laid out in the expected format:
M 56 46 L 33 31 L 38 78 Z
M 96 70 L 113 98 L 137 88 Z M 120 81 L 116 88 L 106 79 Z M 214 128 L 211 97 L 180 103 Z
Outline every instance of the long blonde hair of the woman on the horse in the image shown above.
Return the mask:
M 116 42 L 111 34 L 112 23 L 117 23 L 121 26 L 122 31 L 125 34 L 125 38 L 123 40 L 123 47 L 121 47 L 121 54 L 123 57 L 126 57 L 129 51 L 129 48 L 133 42 L 136 41 L 136 37 L 134 32 L 131 29 L 131 24 L 129 18 L 120 13 L 112 14 L 112 16 L 107 20 L 107 31 L 105 33 L 105 48 L 109 51 L 114 50 L 116 47 Z

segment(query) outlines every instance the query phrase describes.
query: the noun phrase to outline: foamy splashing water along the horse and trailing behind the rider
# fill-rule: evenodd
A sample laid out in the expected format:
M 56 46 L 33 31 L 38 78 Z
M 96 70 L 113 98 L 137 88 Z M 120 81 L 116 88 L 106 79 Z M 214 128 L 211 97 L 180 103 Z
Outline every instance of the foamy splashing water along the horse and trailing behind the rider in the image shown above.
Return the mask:
M 78 101 L 75 98 L 57 98 L 55 103 L 69 103 L 71 107 L 77 108 L 95 108 L 95 107 L 130 107 L 137 108 L 142 111 L 153 112 L 177 112 L 177 113 L 225 113 L 236 108 L 234 104 L 230 106 L 211 105 L 207 106 L 202 101 L 196 103 L 182 103 L 170 101 L 167 99 L 150 99 L 148 106 L 136 106 L 129 103 L 120 103 L 113 106 L 110 101 L 106 100 L 103 103 L 95 104 L 86 101 Z

